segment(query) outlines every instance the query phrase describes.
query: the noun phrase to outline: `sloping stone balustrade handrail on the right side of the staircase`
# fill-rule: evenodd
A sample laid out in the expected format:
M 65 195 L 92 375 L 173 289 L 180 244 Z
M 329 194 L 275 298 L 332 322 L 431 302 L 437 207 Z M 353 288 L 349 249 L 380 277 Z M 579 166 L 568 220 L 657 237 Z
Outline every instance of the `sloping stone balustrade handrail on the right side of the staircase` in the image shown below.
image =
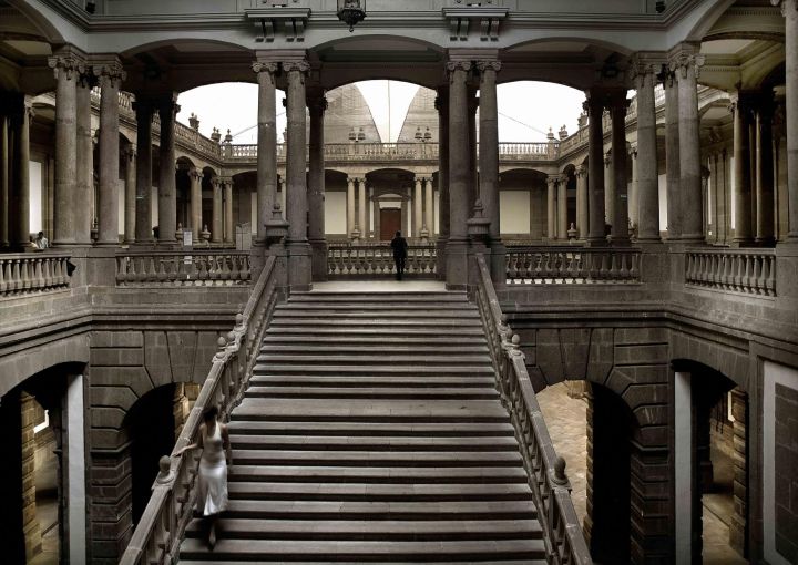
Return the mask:
M 571 500 L 565 462 L 557 458 L 519 348 L 502 315 L 484 256 L 475 256 L 475 300 L 488 336 L 499 389 L 519 439 L 523 466 L 538 505 L 546 561 L 553 564 L 593 563 Z

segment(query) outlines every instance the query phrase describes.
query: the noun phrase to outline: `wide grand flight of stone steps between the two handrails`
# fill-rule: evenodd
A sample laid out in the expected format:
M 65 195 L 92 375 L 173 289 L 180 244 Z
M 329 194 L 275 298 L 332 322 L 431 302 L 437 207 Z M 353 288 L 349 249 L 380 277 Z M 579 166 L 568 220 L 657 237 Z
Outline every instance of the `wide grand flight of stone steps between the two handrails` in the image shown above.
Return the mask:
M 229 511 L 183 564 L 545 562 L 464 294 L 293 294 L 229 429 Z

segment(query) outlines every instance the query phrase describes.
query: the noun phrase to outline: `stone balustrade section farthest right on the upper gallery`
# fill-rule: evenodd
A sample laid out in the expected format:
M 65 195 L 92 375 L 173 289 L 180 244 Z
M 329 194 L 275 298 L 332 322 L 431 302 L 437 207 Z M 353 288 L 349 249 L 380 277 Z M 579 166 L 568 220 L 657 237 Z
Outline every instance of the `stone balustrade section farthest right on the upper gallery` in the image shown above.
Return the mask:
M 773 249 L 688 249 L 685 284 L 775 297 L 776 256 Z

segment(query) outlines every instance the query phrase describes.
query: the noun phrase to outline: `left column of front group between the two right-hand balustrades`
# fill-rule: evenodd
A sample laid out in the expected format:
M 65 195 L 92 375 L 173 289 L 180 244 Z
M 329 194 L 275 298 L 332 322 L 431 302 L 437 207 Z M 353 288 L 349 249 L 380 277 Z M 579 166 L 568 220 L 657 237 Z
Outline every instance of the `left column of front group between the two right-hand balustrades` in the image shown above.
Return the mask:
M 656 70 L 653 64 L 638 62 L 636 65 L 637 152 L 633 162 L 633 171 L 636 173 L 636 206 L 631 209 L 636 208 L 638 242 L 659 242 L 659 178 L 654 100 Z

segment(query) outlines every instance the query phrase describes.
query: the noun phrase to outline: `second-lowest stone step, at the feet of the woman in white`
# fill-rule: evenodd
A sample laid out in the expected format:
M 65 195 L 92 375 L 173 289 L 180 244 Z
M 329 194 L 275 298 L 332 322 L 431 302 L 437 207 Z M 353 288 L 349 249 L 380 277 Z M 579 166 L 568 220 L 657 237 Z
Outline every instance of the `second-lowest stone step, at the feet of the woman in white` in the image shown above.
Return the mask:
M 419 520 L 365 521 L 337 520 L 308 523 L 304 520 L 226 520 L 219 521 L 219 534 L 225 540 L 539 540 L 542 537 L 536 520 Z M 204 535 L 204 524 L 193 520 L 186 528 L 188 537 Z

